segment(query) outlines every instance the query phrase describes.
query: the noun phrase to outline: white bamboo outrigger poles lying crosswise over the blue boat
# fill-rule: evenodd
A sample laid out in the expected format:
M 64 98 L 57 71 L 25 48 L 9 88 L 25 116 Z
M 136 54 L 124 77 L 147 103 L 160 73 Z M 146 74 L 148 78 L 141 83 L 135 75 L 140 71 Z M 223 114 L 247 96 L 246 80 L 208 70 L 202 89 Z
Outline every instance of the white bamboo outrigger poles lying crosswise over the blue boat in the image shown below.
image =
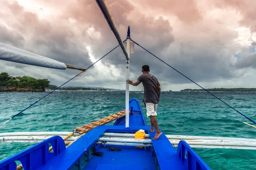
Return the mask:
M 72 134 L 72 135 L 71 135 Z M 82 133 L 84 134 L 84 133 Z M 42 142 L 52 136 L 61 136 L 66 145 L 75 141 L 80 133 L 73 132 L 13 132 L 0 133 L 0 142 Z M 125 137 L 134 138 L 134 134 L 122 133 L 104 133 L 103 136 L 108 137 Z M 145 136 L 146 139 L 149 137 Z M 178 146 L 180 140 L 186 141 L 192 148 L 222 148 L 222 149 L 247 149 L 256 150 L 256 139 L 233 138 L 233 137 L 216 137 L 216 136 L 181 136 L 166 135 L 174 147 Z

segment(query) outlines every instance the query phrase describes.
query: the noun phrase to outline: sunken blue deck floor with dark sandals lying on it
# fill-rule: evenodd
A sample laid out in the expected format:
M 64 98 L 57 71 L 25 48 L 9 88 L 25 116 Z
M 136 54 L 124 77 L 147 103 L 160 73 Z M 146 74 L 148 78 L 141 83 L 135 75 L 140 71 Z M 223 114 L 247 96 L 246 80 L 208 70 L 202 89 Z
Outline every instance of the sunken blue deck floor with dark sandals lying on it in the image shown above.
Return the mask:
M 122 151 L 111 151 L 108 147 L 117 147 Z M 149 147 L 101 146 L 102 156 L 93 156 L 84 170 L 157 170 L 152 151 Z

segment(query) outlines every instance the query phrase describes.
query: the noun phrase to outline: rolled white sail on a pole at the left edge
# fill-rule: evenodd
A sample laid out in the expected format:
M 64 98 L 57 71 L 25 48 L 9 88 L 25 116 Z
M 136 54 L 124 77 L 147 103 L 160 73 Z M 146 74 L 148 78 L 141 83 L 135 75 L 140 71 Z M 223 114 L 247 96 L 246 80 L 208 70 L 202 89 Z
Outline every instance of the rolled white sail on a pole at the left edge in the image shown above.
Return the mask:
M 67 65 L 54 59 L 43 57 L 11 45 L 0 42 L 0 59 L 22 64 L 35 65 L 40 67 L 55 68 L 60 70 L 67 69 Z

